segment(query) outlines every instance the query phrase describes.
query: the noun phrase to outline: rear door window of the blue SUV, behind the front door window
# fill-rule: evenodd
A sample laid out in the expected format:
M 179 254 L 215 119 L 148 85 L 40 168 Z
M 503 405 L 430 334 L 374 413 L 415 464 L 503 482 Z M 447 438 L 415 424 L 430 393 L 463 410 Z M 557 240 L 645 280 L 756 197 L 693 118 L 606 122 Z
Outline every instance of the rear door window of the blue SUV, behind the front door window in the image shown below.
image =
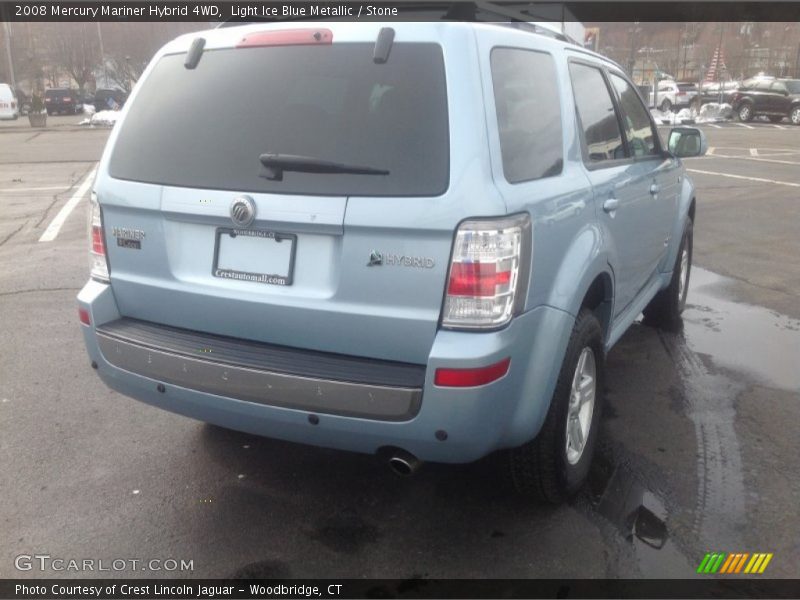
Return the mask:
M 572 89 L 591 162 L 625 158 L 614 104 L 599 69 L 571 63 Z

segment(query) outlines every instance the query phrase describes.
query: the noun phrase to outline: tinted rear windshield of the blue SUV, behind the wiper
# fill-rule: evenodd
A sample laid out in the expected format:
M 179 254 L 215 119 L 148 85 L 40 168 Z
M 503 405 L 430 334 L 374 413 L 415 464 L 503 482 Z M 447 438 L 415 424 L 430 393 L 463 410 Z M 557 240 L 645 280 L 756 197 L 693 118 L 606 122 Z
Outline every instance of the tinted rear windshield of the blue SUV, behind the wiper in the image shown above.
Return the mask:
M 112 177 L 289 194 L 433 196 L 447 189 L 449 137 L 441 47 L 375 45 L 210 50 L 195 70 L 163 57 L 143 82 L 111 155 Z M 268 179 L 261 154 L 290 154 L 388 175 Z

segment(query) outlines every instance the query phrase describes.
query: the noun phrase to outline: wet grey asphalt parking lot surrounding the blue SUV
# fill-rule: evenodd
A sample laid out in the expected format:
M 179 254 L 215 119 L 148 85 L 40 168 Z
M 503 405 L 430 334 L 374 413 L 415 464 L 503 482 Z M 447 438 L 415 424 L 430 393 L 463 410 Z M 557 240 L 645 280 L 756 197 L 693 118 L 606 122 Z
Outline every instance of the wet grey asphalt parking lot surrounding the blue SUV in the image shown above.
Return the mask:
M 798 576 L 800 127 L 701 126 L 684 330 L 638 324 L 611 351 L 591 485 L 552 508 L 515 497 L 499 455 L 401 479 L 108 390 L 75 296 L 109 130 L 79 120 L 0 126 L 0 577 L 93 575 L 15 568 L 35 553 L 193 565 L 120 576 L 688 577 L 711 551 Z

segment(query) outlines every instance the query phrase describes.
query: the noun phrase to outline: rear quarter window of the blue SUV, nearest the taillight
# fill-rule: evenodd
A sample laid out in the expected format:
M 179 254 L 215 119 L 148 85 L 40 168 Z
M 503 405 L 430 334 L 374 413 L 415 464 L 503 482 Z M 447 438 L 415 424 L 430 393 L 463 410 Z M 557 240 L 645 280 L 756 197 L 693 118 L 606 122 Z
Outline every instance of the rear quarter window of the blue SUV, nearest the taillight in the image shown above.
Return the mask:
M 503 175 L 509 183 L 561 173 L 561 103 L 553 57 L 515 48 L 492 50 Z

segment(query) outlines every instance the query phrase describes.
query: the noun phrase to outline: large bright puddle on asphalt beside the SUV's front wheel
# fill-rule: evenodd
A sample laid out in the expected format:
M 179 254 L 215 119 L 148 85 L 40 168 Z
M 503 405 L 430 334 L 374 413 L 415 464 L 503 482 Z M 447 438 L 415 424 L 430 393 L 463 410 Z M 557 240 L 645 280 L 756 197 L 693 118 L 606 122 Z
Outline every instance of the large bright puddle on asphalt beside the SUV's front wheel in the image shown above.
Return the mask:
M 692 351 L 769 387 L 800 391 L 800 320 L 724 298 L 732 280 L 692 268 L 683 313 Z

